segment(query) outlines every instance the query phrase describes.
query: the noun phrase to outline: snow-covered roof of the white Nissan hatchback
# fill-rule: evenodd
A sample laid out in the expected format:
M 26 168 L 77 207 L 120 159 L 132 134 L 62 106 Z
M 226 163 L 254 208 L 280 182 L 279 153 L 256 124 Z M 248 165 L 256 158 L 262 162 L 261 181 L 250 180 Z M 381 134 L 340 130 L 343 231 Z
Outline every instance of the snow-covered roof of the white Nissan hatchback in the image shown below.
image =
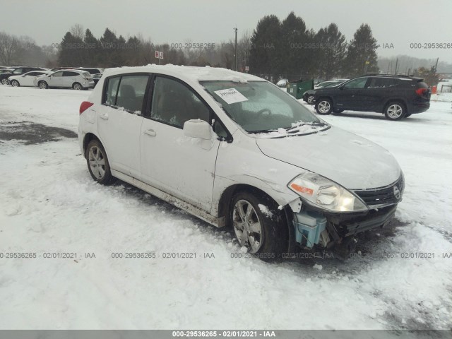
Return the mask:
M 195 67 L 195 66 L 176 66 L 172 64 L 156 65 L 148 64 L 147 66 L 138 67 L 119 67 L 115 69 L 105 69 L 105 76 L 112 76 L 122 73 L 160 73 L 168 76 L 174 76 L 189 81 L 266 81 L 257 76 L 251 76 L 247 73 L 231 71 L 230 69 L 221 69 L 216 67 Z

